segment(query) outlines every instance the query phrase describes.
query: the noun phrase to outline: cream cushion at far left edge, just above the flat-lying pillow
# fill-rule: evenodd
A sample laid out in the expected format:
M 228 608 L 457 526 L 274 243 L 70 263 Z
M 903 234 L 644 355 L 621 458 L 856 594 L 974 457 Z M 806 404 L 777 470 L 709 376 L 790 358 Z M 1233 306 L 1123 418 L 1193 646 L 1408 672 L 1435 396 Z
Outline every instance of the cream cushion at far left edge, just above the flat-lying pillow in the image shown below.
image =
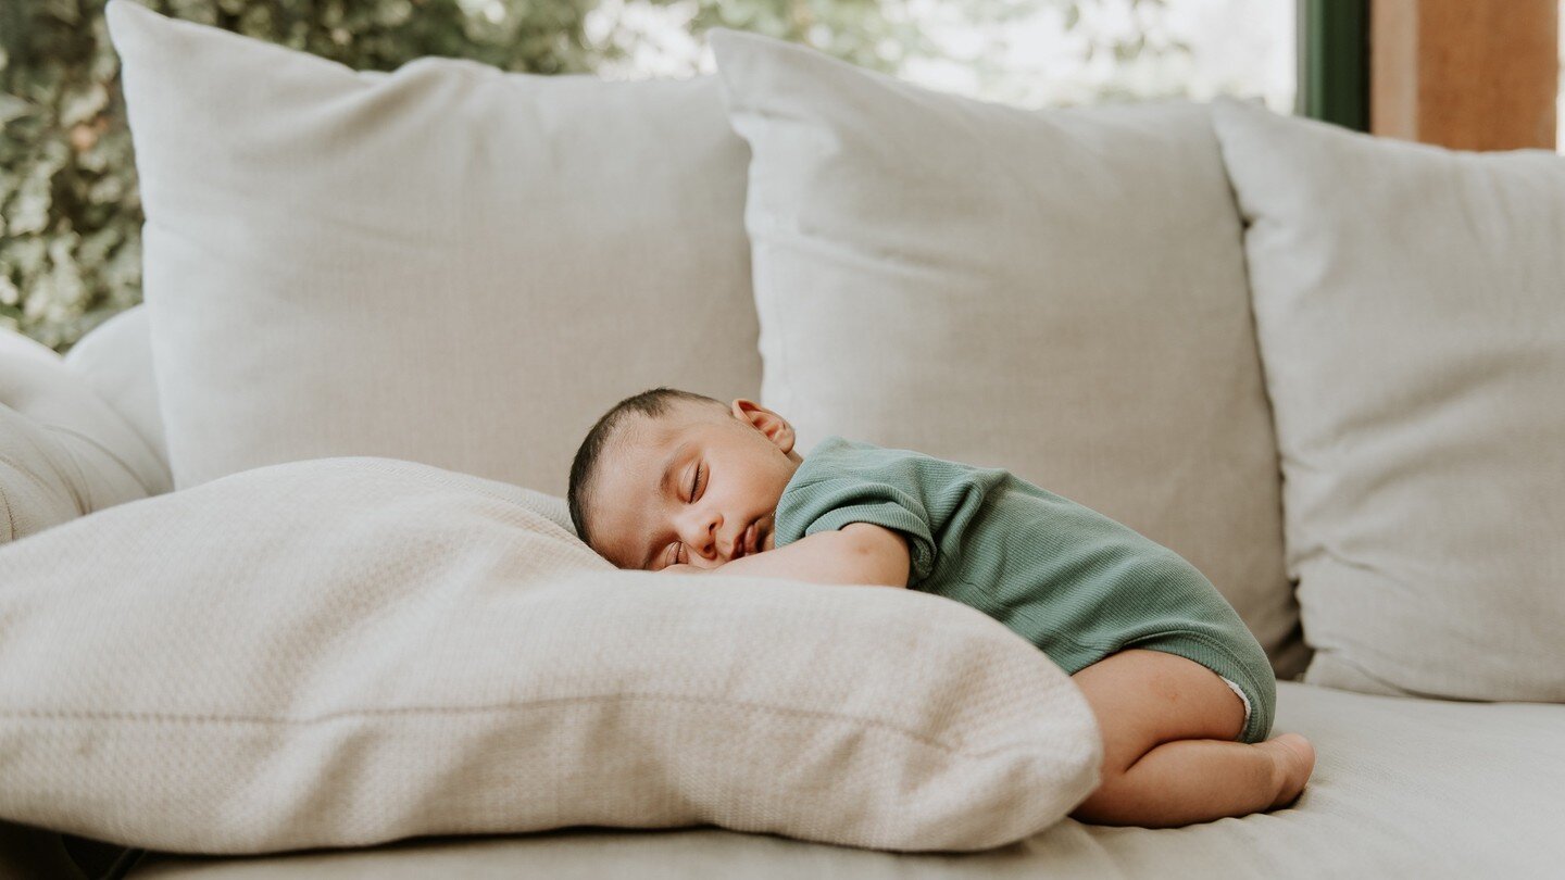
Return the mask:
M 146 498 L 167 479 L 158 454 L 58 354 L 0 330 L 0 543 Z

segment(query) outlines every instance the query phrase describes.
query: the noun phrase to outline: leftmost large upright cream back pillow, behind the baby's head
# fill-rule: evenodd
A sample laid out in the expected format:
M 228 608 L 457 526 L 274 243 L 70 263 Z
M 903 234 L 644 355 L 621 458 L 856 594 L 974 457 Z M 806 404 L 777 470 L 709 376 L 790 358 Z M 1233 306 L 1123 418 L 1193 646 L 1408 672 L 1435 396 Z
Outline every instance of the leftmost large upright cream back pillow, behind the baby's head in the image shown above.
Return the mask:
M 108 6 L 177 487 L 374 454 L 565 493 L 651 385 L 757 396 L 712 77 L 354 72 Z

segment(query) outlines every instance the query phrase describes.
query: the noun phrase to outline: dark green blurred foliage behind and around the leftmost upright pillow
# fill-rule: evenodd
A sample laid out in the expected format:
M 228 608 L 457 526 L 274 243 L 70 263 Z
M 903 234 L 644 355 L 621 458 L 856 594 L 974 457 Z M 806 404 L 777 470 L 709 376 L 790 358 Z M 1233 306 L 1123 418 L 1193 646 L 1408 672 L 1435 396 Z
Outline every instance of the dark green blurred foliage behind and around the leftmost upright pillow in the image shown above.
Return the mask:
M 357 69 L 423 55 L 507 70 L 588 72 L 593 0 L 138 0 L 158 13 Z M 0 5 L 0 324 L 67 349 L 141 301 L 141 200 L 105 0 Z

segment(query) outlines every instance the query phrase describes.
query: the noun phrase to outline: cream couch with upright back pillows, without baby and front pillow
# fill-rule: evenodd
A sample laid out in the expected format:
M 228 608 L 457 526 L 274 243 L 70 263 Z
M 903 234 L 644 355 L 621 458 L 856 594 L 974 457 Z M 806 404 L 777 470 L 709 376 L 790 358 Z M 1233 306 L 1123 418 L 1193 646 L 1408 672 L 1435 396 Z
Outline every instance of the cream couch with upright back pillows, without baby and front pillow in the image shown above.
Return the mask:
M 1232 99 L 1022 111 L 729 31 L 715 77 L 549 83 L 358 74 L 110 9 L 147 304 L 64 357 L 0 337 L 0 564 L 336 456 L 557 501 L 598 412 L 681 385 L 761 399 L 804 449 L 1009 467 L 1180 551 L 1257 633 L 1274 733 L 1318 764 L 1272 813 L 1053 816 L 983 847 L 718 819 L 246 855 L 97 841 L 136 789 L 83 783 L 108 794 L 77 814 L 106 817 L 69 828 L 0 792 L 9 874 L 1565 871 L 1565 160 Z

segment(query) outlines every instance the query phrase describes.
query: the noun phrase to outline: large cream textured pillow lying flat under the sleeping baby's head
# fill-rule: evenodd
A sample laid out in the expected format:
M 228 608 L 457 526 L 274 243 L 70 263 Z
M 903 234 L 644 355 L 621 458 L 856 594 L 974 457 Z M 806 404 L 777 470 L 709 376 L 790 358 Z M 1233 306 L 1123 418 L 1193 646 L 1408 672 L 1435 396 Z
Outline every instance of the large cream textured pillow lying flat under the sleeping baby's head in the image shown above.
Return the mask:
M 0 819 L 205 853 L 698 824 L 970 850 L 1097 784 L 1080 691 L 981 612 L 620 572 L 540 501 L 322 459 L 0 546 Z

